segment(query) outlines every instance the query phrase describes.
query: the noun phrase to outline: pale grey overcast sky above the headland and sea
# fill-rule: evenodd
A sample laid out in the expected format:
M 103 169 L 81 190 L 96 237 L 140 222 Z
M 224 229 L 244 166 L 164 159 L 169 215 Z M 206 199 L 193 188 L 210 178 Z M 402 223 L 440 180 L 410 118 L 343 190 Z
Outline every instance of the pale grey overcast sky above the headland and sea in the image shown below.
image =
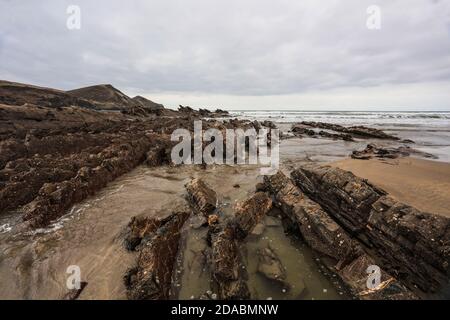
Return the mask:
M 172 107 L 450 110 L 450 1 L 0 0 L 0 79 Z

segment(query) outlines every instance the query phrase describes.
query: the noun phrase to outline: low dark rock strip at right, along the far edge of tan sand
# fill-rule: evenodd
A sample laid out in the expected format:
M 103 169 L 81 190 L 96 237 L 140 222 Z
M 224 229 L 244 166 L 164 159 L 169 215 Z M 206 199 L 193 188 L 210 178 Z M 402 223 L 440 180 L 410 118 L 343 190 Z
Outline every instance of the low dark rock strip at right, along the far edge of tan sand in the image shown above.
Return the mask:
M 397 148 L 380 147 L 376 144 L 370 143 L 364 150 L 353 151 L 351 157 L 358 160 L 369 160 L 373 158 L 379 159 L 397 159 L 400 157 L 409 157 L 416 155 L 423 158 L 436 159 L 436 156 L 411 148 L 410 146 L 400 146 Z

